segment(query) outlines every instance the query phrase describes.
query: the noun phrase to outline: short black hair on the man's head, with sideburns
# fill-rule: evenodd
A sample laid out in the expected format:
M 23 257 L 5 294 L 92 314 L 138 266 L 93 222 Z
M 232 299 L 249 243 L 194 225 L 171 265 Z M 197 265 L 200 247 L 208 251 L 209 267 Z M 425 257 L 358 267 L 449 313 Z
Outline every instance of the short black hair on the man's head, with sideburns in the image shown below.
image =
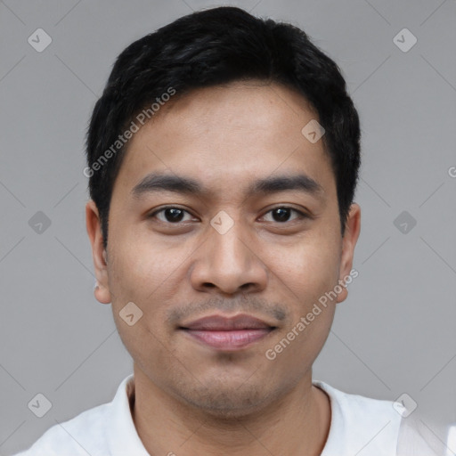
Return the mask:
M 118 55 L 86 137 L 84 174 L 105 248 L 114 182 L 138 120 L 151 118 L 163 102 L 194 89 L 249 79 L 288 86 L 318 114 L 344 235 L 361 162 L 360 125 L 338 65 L 300 28 L 221 6 L 183 16 Z

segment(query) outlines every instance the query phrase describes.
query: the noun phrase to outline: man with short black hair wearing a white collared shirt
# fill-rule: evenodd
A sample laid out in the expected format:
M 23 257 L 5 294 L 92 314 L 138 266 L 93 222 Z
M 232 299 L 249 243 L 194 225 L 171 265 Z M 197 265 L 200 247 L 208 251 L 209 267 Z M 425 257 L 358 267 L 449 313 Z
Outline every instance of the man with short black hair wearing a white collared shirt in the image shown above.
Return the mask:
M 302 30 L 221 7 L 129 45 L 84 172 L 134 373 L 22 454 L 396 454 L 399 404 L 312 379 L 357 275 L 359 167 L 344 78 Z

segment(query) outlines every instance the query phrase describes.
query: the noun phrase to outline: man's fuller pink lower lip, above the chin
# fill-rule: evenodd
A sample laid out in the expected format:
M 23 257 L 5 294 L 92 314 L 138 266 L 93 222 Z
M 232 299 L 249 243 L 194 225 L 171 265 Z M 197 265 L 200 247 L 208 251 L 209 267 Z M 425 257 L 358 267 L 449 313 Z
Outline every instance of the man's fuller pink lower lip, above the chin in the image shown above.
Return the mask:
M 219 350 L 240 350 L 265 338 L 273 329 L 257 330 L 185 330 L 192 338 Z

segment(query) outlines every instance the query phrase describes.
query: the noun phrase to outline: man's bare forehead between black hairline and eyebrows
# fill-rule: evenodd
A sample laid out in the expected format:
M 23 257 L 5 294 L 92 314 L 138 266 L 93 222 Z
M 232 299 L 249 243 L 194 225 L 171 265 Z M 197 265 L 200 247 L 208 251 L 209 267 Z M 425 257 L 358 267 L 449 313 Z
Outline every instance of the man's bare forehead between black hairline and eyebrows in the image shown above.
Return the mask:
M 330 193 L 334 175 L 322 140 L 309 142 L 301 132 L 317 118 L 302 95 L 283 85 L 249 81 L 194 90 L 165 103 L 134 134 L 115 190 L 131 191 L 152 172 L 191 176 L 220 193 L 300 173 Z

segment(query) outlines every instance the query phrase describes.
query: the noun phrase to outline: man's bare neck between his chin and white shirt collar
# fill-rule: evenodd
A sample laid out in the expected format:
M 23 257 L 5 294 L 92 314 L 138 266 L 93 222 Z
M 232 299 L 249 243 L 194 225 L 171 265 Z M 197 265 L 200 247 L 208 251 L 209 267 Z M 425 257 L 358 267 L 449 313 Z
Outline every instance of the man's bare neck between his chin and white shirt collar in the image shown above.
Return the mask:
M 330 400 L 312 374 L 261 409 L 216 416 L 159 388 L 134 364 L 132 417 L 151 454 L 318 456 L 330 430 Z

